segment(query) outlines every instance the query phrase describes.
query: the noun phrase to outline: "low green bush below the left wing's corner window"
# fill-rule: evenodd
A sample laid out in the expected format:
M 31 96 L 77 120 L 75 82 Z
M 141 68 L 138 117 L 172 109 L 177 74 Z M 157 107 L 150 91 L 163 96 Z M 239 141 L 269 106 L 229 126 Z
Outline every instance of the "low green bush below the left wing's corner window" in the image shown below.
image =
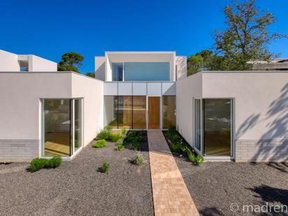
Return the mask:
M 34 158 L 29 166 L 29 171 L 36 172 L 41 168 L 56 168 L 62 164 L 61 157 L 52 157 L 52 159 Z

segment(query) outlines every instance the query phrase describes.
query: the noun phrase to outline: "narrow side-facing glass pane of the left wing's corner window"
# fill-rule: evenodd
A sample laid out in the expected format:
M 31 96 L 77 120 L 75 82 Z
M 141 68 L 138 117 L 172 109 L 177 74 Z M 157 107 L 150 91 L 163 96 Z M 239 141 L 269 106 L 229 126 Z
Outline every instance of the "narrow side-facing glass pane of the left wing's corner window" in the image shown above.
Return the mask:
M 77 151 L 81 146 L 81 99 L 74 100 L 74 151 Z

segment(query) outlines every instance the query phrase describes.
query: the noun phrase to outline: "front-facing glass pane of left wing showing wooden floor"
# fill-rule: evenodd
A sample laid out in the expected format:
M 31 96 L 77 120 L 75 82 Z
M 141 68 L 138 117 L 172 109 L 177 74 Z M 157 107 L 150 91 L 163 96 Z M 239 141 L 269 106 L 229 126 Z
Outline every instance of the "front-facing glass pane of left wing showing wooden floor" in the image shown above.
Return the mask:
M 44 156 L 70 156 L 70 100 L 45 99 L 43 103 Z

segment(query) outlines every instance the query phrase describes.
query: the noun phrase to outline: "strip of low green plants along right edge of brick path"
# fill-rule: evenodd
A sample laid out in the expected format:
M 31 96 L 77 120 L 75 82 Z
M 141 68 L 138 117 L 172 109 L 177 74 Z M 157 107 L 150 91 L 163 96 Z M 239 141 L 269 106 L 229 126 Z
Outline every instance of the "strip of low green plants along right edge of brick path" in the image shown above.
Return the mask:
M 192 147 L 182 138 L 182 136 L 180 136 L 180 134 L 178 134 L 175 126 L 171 125 L 168 128 L 168 131 L 164 132 L 164 136 L 168 141 L 171 152 L 187 157 L 189 161 L 197 166 L 203 163 L 203 157 L 194 152 Z

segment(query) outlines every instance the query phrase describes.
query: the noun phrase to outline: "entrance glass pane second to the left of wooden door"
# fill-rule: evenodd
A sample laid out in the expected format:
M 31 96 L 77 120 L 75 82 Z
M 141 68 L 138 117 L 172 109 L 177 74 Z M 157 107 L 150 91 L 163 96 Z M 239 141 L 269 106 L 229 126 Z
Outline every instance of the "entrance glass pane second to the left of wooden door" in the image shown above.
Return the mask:
M 118 96 L 118 128 L 132 128 L 132 96 Z

